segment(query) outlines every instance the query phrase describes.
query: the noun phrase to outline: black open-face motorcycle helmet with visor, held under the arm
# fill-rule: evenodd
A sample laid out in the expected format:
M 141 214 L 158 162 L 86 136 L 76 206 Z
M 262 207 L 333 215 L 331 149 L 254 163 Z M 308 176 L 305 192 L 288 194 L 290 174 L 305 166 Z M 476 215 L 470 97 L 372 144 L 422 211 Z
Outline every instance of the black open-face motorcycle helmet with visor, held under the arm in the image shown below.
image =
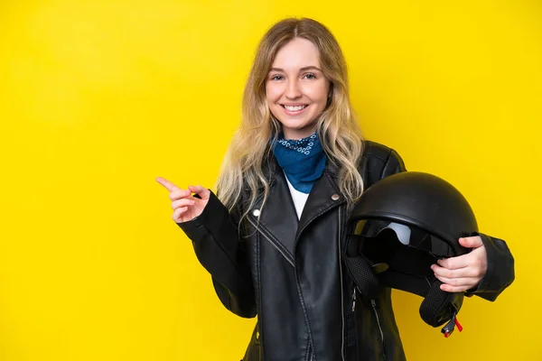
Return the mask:
M 361 295 L 380 286 L 424 297 L 425 323 L 453 332 L 463 292 L 444 292 L 431 265 L 470 250 L 459 238 L 478 226 L 472 208 L 450 183 L 435 175 L 404 171 L 379 180 L 355 204 L 348 220 L 346 264 Z

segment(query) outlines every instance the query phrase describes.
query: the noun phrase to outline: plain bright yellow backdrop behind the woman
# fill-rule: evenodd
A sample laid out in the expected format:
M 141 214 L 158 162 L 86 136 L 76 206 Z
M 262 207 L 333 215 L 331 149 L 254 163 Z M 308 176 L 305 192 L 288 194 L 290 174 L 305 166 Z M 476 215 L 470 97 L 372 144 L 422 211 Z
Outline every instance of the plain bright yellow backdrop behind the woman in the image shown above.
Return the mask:
M 537 1 L 0 2 L 0 360 L 238 360 L 255 319 L 215 296 L 163 176 L 212 187 L 257 41 L 337 36 L 365 134 L 450 180 L 517 281 L 444 339 L 396 293 L 409 360 L 542 360 Z

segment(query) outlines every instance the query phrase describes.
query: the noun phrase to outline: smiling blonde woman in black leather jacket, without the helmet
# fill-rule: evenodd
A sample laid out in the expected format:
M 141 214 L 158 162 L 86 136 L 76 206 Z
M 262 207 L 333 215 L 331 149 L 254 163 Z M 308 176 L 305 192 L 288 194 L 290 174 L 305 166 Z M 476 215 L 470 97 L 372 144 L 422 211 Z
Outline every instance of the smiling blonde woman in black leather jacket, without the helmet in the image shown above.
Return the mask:
M 362 141 L 332 33 L 310 19 L 276 23 L 259 44 L 218 197 L 158 179 L 220 301 L 257 316 L 244 360 L 405 359 L 390 290 L 354 305 L 341 263 L 352 205 L 399 171 L 395 151 Z M 461 242 L 470 254 L 434 265 L 443 290 L 494 300 L 513 279 L 494 267 L 508 248 L 484 235 Z

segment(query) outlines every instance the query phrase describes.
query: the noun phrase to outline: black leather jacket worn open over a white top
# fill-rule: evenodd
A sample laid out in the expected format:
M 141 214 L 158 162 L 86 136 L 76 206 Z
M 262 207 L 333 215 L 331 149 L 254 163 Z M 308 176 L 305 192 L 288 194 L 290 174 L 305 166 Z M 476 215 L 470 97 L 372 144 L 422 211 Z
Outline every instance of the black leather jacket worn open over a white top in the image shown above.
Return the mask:
M 405 166 L 395 151 L 365 143 L 360 173 L 366 189 L 399 171 Z M 356 298 L 341 262 L 348 214 L 335 168 L 326 165 L 299 220 L 274 157 L 266 174 L 265 207 L 258 199 L 239 227 L 244 201 L 229 213 L 212 193 L 200 217 L 179 224 L 224 306 L 244 318 L 257 316 L 243 360 L 405 360 L 391 290 L 372 301 Z M 488 271 L 473 293 L 493 301 L 513 281 L 514 261 L 504 241 L 481 237 Z

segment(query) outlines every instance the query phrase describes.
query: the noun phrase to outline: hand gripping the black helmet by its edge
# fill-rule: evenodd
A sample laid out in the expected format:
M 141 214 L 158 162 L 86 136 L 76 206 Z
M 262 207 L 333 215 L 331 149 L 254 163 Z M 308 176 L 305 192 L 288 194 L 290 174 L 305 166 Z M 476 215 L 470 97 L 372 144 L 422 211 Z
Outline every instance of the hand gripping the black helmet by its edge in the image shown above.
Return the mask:
M 480 236 L 459 238 L 459 243 L 472 251 L 466 255 L 438 260 L 431 269 L 443 284 L 445 292 L 465 292 L 478 286 L 488 269 L 486 250 Z

